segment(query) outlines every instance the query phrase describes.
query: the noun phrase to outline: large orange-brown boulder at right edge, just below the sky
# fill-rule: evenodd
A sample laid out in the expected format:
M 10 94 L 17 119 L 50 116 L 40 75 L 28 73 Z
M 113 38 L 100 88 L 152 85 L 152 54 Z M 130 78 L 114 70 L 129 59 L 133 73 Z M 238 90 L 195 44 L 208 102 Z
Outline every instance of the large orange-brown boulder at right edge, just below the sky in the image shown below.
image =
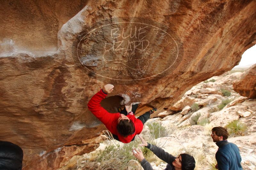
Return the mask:
M 256 64 L 246 70 L 233 83 L 234 90 L 241 96 L 256 98 Z

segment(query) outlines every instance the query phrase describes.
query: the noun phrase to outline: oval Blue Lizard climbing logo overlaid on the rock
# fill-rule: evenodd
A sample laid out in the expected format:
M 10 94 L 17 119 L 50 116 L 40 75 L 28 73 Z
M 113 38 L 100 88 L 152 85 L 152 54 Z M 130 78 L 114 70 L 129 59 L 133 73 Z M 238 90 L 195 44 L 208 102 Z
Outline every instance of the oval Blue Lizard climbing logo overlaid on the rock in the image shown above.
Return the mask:
M 112 18 L 87 30 L 74 43 L 73 57 L 104 81 L 150 82 L 170 74 L 182 58 L 178 36 L 148 19 Z

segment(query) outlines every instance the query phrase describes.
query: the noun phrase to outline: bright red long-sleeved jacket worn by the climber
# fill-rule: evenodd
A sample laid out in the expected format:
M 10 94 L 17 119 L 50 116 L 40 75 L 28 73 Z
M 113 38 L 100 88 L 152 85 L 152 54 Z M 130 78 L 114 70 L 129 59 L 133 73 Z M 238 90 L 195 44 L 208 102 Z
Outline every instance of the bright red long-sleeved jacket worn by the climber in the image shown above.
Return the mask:
M 105 124 L 106 128 L 114 135 L 118 136 L 120 142 L 129 143 L 132 141 L 132 138 L 140 134 L 143 129 L 143 124 L 140 119 L 137 119 L 134 114 L 127 115 L 127 117 L 133 122 L 135 127 L 135 132 L 132 135 L 127 137 L 123 137 L 117 132 L 117 120 L 120 117 L 120 113 L 108 113 L 103 107 L 101 107 L 100 102 L 107 96 L 102 89 L 92 96 L 91 100 L 88 103 L 88 109 L 96 116 L 103 124 Z

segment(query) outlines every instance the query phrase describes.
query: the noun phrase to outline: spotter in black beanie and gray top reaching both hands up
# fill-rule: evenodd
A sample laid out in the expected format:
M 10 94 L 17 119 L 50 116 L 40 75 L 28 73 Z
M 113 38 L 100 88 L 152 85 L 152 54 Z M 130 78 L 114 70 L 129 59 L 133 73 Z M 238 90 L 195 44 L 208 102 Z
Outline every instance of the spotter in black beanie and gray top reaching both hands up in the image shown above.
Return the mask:
M 139 146 L 145 146 L 150 149 L 158 158 L 167 162 L 167 166 L 164 170 L 194 170 L 196 167 L 196 161 L 193 156 L 182 153 L 178 157 L 174 157 L 171 154 L 165 152 L 162 148 L 147 143 L 140 135 L 139 138 L 142 142 Z M 140 164 L 144 170 L 153 170 L 149 162 L 144 158 L 141 149 L 132 149 L 133 155 L 140 160 Z

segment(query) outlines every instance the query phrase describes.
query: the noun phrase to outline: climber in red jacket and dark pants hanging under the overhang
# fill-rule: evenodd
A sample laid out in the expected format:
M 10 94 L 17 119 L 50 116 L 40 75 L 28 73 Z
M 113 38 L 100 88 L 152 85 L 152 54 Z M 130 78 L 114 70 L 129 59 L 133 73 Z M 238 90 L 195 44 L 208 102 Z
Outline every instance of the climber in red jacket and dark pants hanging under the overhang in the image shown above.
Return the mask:
M 88 103 L 88 108 L 113 134 L 113 137 L 123 143 L 129 143 L 134 140 L 135 135 L 140 134 L 143 129 L 143 124 L 149 119 L 150 114 L 156 109 L 149 110 L 140 117 L 136 118 L 133 114 L 137 109 L 137 105 L 125 106 L 125 110 L 121 113 L 109 113 L 100 102 L 113 91 L 112 84 L 106 84 L 103 89 L 92 96 Z M 133 110 L 133 111 L 132 111 Z

